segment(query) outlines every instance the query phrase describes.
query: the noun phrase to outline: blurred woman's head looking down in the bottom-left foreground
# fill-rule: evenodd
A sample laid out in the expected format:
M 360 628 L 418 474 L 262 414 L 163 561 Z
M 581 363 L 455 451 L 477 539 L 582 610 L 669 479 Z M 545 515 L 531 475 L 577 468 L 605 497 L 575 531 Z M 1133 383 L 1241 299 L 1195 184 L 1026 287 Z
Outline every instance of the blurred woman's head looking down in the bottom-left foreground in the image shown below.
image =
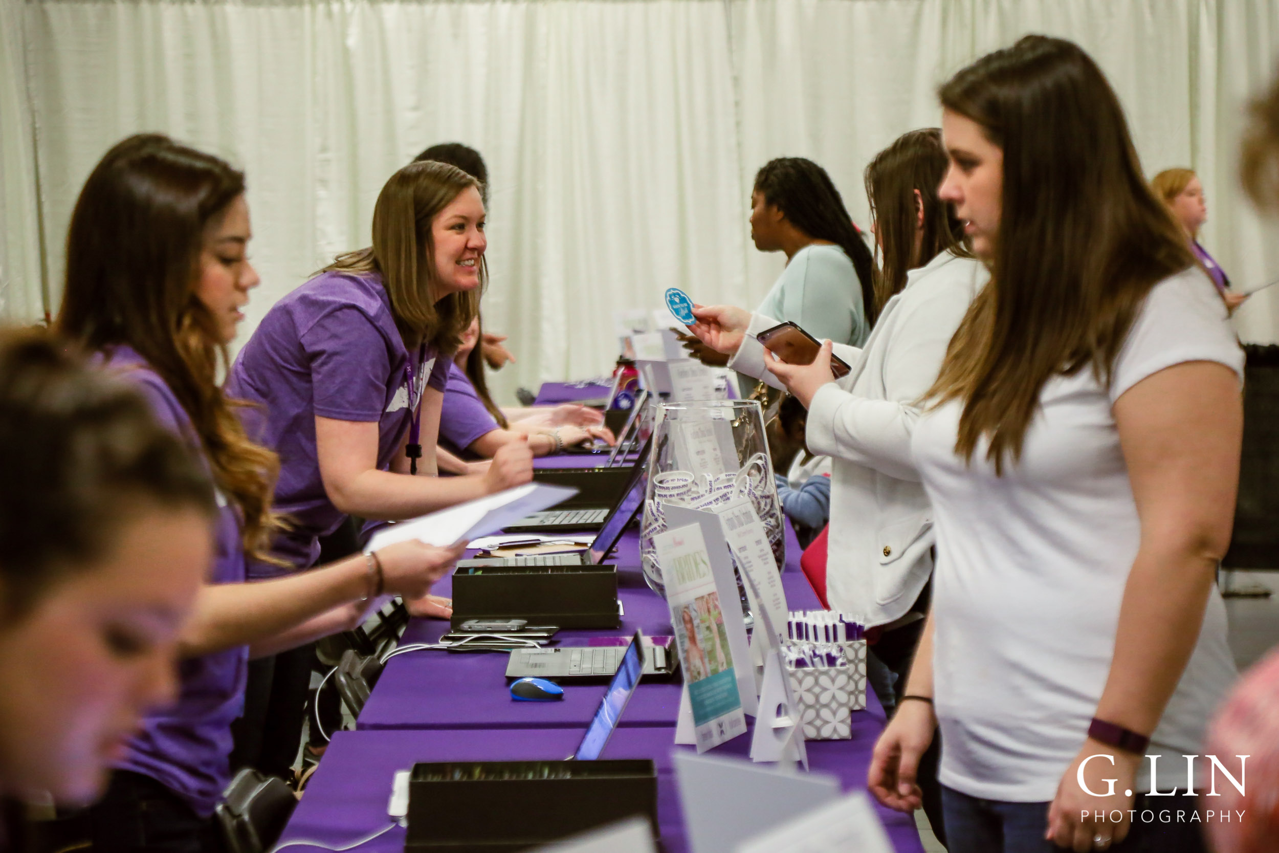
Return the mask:
M 0 331 L 0 850 L 26 850 L 9 804 L 95 799 L 173 698 L 214 491 L 134 389 L 35 330 Z

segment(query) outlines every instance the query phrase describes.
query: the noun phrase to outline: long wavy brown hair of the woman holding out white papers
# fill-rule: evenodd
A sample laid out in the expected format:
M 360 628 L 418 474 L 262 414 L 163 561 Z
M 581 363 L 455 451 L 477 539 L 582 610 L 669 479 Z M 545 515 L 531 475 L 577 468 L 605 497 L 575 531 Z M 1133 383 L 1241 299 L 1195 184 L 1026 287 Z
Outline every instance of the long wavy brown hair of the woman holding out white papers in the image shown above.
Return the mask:
M 208 228 L 243 193 L 244 174 L 219 157 L 155 133 L 119 142 L 75 201 L 55 325 L 86 352 L 128 345 L 146 359 L 191 417 L 214 482 L 240 510 L 244 550 L 274 560 L 280 460 L 249 440 L 223 394 L 226 347 L 193 286 Z

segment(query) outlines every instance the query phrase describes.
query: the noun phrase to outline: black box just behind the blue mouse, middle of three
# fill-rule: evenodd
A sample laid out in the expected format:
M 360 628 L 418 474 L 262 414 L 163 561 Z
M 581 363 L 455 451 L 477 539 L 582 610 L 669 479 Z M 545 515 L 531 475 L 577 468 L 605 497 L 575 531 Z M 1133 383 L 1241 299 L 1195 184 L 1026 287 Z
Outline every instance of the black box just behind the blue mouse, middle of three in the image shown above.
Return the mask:
M 453 575 L 454 628 L 468 619 L 527 619 L 560 628 L 616 628 L 618 568 L 495 565 Z

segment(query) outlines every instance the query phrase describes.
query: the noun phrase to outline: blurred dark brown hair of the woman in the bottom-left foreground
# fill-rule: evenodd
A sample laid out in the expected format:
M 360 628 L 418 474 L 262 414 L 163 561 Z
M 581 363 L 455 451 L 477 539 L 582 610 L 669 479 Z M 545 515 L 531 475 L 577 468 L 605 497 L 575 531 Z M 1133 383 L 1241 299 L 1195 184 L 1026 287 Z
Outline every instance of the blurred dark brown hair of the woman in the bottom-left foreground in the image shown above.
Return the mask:
M 128 382 L 42 330 L 0 330 L 0 611 L 104 558 L 147 503 L 214 517 L 214 491 L 180 439 Z

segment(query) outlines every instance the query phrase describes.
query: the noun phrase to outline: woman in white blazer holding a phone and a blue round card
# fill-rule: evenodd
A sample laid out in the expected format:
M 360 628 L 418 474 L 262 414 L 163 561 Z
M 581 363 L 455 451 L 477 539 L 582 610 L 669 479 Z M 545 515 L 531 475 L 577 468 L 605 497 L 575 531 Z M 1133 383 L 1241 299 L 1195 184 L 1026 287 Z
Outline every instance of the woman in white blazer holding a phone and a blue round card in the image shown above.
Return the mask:
M 785 387 L 808 409 L 808 450 L 833 459 L 826 593 L 831 607 L 879 629 L 872 651 L 899 675 L 899 685 L 918 643 L 921 597 L 932 574 L 932 517 L 911 459 L 917 400 L 936 380 L 952 335 L 989 278 L 964 248 L 963 224 L 938 198 L 945 169 L 934 128 L 907 133 L 866 168 L 883 309 L 863 348 L 834 345 L 852 366 L 838 382 L 830 341 L 813 364 L 788 366 L 755 338 L 776 325 L 773 317 L 726 306 L 693 311 L 693 333 L 732 354 L 734 370 Z M 880 698 L 891 708 L 897 696 Z M 940 799 L 925 793 L 925 811 L 940 830 Z

